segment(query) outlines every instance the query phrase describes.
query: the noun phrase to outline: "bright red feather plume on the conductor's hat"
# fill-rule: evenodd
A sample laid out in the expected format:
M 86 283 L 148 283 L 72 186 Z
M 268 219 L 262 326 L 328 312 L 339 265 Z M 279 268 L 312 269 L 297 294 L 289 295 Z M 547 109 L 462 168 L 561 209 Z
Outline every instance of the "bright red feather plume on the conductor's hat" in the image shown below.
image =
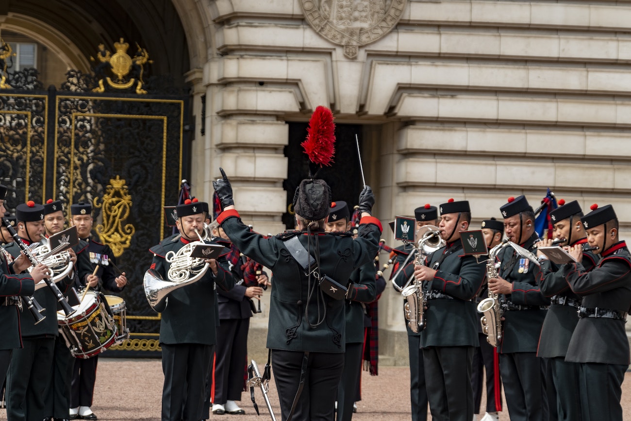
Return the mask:
M 307 133 L 307 139 L 300 145 L 309 160 L 321 166 L 331 165 L 335 153 L 335 124 L 331 110 L 318 105 L 309 120 Z

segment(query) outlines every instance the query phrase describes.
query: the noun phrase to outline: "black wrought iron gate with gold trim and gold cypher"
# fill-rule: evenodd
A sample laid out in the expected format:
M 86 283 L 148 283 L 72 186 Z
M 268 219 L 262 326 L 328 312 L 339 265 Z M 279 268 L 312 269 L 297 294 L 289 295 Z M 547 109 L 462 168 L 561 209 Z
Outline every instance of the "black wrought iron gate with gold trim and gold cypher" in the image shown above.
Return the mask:
M 163 206 L 186 176 L 187 97 L 0 90 L 0 180 L 9 211 L 27 200 L 93 205 L 94 231 L 127 272 L 122 292 L 131 340 L 110 356 L 155 356 L 158 315 L 143 292 L 149 247 L 167 235 Z M 170 233 L 168 233 L 170 234 Z

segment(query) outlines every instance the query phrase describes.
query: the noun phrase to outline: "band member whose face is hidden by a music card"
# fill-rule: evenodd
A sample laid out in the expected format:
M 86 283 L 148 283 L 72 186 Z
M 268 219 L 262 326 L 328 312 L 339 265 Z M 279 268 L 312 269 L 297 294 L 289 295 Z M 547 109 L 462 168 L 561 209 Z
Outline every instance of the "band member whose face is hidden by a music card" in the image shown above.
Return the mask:
M 438 225 L 438 208 L 426 204 L 414 210 L 416 218 L 415 233 L 425 225 Z M 415 241 L 420 239 L 415 238 Z M 394 282 L 403 288 L 408 279 L 414 273 L 414 254 L 416 250 L 413 244 L 407 243 L 394 249 L 396 260 L 392 266 L 391 276 Z M 410 253 L 413 253 L 410 256 Z M 407 263 L 405 261 L 407 260 Z M 401 265 L 405 266 L 401 270 Z M 399 271 L 401 270 L 401 271 Z M 397 275 L 398 274 L 398 275 Z M 403 300 L 405 301 L 405 299 Z M 425 365 L 423 364 L 423 350 L 420 347 L 421 333 L 414 333 L 408 323 L 405 324 L 408 331 L 408 352 L 410 355 L 410 402 L 412 406 L 412 421 L 427 421 L 427 386 L 425 386 Z

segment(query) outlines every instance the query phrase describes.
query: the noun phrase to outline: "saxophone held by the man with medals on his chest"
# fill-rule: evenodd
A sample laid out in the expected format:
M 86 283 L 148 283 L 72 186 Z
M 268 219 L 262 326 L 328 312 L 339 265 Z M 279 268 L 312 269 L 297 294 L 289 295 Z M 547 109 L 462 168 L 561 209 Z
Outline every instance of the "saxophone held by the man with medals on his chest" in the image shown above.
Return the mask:
M 496 262 L 495 258 L 500 250 L 509 245 L 508 243 L 508 239 L 504 239 L 504 241 L 488 252 L 487 280 L 497 278 L 497 268 L 500 266 L 500 262 Z M 492 347 L 497 348 L 500 345 L 500 341 L 502 341 L 502 309 L 500 309 L 498 294 L 493 294 L 489 288 L 488 298 L 481 300 L 480 304 L 478 304 L 478 312 L 484 314 L 480 318 L 482 332 L 487 335 L 488 343 Z

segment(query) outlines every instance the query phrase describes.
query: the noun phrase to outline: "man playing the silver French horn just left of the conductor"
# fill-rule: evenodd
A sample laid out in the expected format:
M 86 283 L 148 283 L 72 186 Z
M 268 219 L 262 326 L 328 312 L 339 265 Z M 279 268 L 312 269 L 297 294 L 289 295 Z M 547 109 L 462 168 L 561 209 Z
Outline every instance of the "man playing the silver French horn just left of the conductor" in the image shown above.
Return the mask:
M 208 208 L 206 208 L 208 209 Z M 199 241 L 206 211 L 197 199 L 177 205 L 180 237 L 151 247 L 154 269 L 167 279 L 171 263 L 168 251 L 177 252 L 189 242 Z M 162 347 L 162 421 L 199 421 L 203 417 L 206 374 L 216 344 L 215 285 L 230 290 L 233 276 L 224 259 L 208 259 L 208 271 L 197 282 L 174 290 L 162 309 L 160 346 Z

